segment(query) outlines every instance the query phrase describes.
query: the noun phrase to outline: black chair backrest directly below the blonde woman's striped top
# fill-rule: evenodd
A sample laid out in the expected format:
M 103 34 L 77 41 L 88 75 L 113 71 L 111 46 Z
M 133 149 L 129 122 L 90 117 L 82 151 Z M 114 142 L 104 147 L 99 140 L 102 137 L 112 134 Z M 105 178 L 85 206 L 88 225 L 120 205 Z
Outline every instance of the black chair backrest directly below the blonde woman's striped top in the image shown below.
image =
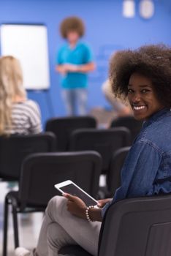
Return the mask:
M 53 152 L 56 137 L 51 132 L 38 135 L 12 135 L 0 138 L 0 178 L 18 181 L 20 167 L 28 154 Z

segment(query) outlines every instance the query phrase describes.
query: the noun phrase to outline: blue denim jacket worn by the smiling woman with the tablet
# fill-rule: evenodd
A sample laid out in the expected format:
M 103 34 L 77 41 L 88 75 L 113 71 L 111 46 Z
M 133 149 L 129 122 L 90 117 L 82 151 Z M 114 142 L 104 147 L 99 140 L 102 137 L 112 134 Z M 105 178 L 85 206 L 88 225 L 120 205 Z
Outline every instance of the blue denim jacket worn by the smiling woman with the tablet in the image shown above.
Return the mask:
M 142 126 L 121 170 L 111 203 L 128 197 L 171 192 L 171 112 L 164 108 Z M 102 216 L 110 203 L 102 208 Z

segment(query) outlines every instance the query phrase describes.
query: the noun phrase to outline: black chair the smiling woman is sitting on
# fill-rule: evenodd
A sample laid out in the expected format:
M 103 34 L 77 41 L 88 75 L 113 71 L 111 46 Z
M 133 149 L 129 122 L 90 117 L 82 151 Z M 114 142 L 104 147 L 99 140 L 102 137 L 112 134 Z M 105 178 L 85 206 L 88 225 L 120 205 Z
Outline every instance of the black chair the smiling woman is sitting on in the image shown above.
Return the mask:
M 98 256 L 170 256 L 171 195 L 118 201 L 105 214 Z M 67 256 L 92 256 L 80 246 L 65 246 Z

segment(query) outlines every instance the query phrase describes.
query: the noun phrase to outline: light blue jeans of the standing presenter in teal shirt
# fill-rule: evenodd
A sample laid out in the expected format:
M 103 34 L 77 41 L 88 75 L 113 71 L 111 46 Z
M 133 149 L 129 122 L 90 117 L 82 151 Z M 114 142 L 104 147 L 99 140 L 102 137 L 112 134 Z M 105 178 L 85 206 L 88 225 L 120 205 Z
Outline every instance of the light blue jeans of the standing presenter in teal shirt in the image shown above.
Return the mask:
M 85 116 L 87 113 L 87 89 L 63 89 L 62 97 L 68 116 Z

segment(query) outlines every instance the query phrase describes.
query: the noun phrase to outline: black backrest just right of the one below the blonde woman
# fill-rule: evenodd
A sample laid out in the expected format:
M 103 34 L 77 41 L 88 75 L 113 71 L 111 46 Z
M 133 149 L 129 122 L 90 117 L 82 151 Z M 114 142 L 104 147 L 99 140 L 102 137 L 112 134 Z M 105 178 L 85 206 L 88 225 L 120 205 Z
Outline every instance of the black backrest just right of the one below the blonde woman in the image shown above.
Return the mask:
M 102 156 L 102 170 L 107 172 L 113 153 L 129 146 L 130 132 L 125 127 L 113 129 L 77 129 L 72 132 L 69 150 L 94 150 Z

